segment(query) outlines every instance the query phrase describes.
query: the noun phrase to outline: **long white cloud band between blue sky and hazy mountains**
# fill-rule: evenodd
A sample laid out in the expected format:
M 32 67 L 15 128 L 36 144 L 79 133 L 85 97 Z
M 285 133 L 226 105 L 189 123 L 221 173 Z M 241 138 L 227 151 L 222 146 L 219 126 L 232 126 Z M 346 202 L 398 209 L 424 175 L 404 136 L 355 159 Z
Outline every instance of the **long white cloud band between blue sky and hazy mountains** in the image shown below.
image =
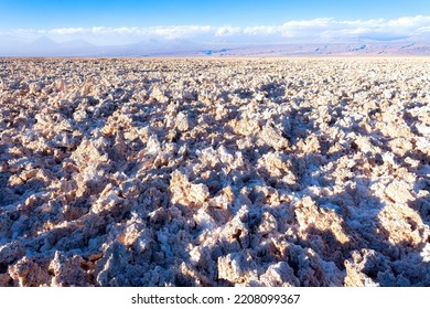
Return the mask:
M 343 40 L 351 38 L 428 38 L 430 15 L 404 17 L 398 19 L 335 20 L 320 18 L 312 20 L 292 20 L 283 24 L 260 24 L 248 26 L 212 25 L 159 25 L 159 26 L 93 26 L 56 29 L 15 29 L 0 33 L 2 36 L 22 41 L 46 35 L 58 42 L 82 39 L 98 44 L 123 44 L 147 39 L 193 39 L 207 43 L 216 38 L 228 36 L 229 42 L 288 42 L 288 40 L 309 42 L 312 40 Z

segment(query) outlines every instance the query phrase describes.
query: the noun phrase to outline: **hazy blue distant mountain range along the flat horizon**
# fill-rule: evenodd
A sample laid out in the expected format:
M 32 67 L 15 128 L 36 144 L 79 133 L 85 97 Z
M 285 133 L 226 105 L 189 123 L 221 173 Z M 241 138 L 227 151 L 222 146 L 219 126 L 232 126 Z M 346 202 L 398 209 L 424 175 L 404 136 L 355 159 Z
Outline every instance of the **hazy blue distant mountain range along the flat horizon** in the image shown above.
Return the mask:
M 127 45 L 94 45 L 84 40 L 58 43 L 46 36 L 28 44 L 0 42 L 0 56 L 330 56 L 430 55 L 430 42 L 408 40 L 348 43 L 234 44 L 195 43 L 186 40 L 147 40 Z

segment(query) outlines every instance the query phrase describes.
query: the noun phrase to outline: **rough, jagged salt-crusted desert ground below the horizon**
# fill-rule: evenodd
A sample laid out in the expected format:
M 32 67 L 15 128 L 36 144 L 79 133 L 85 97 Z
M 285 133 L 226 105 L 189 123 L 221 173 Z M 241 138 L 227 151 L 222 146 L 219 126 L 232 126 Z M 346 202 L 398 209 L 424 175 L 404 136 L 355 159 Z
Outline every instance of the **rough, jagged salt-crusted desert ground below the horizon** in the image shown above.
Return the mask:
M 0 58 L 0 286 L 430 286 L 430 57 Z

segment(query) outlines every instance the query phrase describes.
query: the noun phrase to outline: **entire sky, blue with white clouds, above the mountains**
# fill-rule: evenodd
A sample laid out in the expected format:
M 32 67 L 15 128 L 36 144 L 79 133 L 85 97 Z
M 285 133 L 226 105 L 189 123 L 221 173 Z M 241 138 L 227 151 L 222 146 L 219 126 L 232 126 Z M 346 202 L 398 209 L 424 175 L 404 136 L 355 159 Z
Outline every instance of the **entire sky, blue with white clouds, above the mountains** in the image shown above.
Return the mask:
M 293 42 L 430 38 L 429 0 L 0 0 L 1 42 Z M 6 44 L 6 43 L 3 43 Z

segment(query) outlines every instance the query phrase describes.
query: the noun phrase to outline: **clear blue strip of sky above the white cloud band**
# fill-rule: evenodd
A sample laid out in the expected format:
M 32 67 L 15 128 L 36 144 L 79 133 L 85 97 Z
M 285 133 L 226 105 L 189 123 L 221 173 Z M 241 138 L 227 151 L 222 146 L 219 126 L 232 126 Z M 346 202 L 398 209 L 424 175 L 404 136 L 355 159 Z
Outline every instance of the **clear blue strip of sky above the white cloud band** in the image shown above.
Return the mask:
M 428 0 L 0 0 L 0 29 L 280 24 L 316 18 L 396 19 L 430 14 Z

